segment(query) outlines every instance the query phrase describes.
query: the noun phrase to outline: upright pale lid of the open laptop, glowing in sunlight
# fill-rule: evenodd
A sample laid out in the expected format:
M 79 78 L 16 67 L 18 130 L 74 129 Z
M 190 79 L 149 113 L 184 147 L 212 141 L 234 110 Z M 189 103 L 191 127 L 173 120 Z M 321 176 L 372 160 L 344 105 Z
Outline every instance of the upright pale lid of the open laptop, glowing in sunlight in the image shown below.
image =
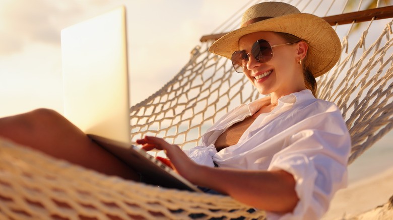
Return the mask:
M 125 9 L 61 31 L 64 116 L 86 134 L 129 143 Z

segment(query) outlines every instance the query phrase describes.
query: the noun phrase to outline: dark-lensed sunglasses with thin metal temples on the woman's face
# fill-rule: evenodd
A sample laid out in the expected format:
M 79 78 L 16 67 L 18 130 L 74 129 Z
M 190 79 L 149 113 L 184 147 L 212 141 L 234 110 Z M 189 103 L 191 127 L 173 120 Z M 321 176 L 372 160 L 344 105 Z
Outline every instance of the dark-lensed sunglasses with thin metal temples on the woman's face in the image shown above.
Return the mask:
M 252 56 L 254 56 L 258 62 L 266 63 L 273 58 L 273 50 L 272 50 L 273 47 L 278 47 L 278 46 L 283 46 L 293 43 L 295 42 L 271 46 L 269 42 L 267 42 L 266 40 L 263 39 L 257 40 L 252 45 L 251 53 L 245 53 L 244 51 L 238 50 L 232 54 L 231 60 L 232 60 L 233 68 L 235 68 L 236 72 L 242 73 L 244 72 L 244 69 L 247 68 L 246 65 L 248 63 L 250 54 L 252 54 Z

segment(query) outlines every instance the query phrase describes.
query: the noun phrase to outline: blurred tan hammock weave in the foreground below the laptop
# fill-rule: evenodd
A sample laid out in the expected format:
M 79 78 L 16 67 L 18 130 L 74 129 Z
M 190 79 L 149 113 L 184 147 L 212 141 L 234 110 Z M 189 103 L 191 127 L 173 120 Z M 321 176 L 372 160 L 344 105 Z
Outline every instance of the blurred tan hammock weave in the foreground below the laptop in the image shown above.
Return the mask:
M 0 139 L 0 219 L 224 219 L 263 216 L 228 196 L 124 181 Z M 77 178 L 76 178 L 77 176 Z M 209 217 L 207 217 L 209 216 Z

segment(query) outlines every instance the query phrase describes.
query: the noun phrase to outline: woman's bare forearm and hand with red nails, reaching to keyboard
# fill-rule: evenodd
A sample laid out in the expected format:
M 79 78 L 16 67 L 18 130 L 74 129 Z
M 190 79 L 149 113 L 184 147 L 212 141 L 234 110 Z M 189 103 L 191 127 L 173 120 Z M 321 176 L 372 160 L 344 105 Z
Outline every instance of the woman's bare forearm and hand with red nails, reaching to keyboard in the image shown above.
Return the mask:
M 208 187 L 255 208 L 274 212 L 292 211 L 298 197 L 294 177 L 286 171 L 250 171 L 198 165 L 177 145 L 161 138 L 137 141 L 144 150 L 164 150 L 173 168 L 193 184 Z

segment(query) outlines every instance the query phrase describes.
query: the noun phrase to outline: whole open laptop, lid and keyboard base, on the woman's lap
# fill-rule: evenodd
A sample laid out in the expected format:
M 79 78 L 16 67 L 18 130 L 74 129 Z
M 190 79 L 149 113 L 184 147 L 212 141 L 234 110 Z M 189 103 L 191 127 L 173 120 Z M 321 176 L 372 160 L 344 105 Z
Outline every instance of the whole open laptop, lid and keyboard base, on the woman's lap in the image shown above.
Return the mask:
M 125 8 L 61 31 L 64 116 L 139 172 L 144 182 L 201 191 L 130 144 Z

